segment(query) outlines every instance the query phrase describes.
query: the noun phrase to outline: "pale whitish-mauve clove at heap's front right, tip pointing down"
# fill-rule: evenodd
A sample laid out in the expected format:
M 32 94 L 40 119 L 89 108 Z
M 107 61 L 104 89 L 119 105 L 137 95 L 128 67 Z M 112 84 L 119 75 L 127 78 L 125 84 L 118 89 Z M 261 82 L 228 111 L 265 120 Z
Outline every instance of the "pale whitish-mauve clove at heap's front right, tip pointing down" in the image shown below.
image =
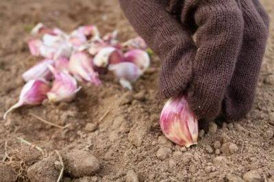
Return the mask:
M 132 90 L 131 83 L 135 82 L 142 72 L 132 62 L 121 62 L 118 64 L 110 64 L 108 70 L 112 71 L 114 75 L 119 79 L 121 86 Z

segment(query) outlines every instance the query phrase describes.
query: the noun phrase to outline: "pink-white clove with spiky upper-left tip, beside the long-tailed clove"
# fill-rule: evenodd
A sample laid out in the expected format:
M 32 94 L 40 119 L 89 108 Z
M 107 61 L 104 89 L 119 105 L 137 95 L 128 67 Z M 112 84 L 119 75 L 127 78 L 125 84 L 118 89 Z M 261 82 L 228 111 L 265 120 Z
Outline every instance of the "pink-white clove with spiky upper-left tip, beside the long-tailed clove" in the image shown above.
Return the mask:
M 55 78 L 51 90 L 47 92 L 49 102 L 71 102 L 75 94 L 81 89 L 77 88 L 76 79 L 69 75 L 69 73 L 56 70 L 53 66 L 49 65 L 49 69 Z

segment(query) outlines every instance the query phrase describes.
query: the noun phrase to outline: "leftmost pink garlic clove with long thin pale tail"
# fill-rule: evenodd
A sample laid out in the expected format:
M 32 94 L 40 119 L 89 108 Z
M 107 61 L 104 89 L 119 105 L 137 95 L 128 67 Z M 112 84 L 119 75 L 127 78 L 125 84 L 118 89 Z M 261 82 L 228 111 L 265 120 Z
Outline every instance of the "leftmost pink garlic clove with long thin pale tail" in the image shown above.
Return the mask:
M 47 92 L 49 92 L 49 90 L 50 88 L 47 81 L 43 79 L 32 79 L 28 81 L 21 90 L 18 103 L 10 107 L 10 109 L 5 112 L 3 118 L 7 118 L 8 113 L 22 105 L 39 105 L 47 98 Z

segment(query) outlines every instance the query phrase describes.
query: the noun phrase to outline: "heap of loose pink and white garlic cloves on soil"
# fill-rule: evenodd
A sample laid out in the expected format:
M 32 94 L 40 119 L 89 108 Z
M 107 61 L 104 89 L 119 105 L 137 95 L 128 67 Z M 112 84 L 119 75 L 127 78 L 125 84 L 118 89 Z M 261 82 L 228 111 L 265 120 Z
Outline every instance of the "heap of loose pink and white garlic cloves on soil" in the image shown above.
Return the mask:
M 53 103 L 73 101 L 81 89 L 77 81 L 102 84 L 100 70 L 112 72 L 121 86 L 132 90 L 132 83 L 150 65 L 145 41 L 137 37 L 119 42 L 116 30 L 101 38 L 95 25 L 81 26 L 66 34 L 38 23 L 31 34 L 29 51 L 42 60 L 23 73 L 27 83 L 18 103 L 5 112 L 4 118 L 17 107 L 39 105 L 45 99 Z

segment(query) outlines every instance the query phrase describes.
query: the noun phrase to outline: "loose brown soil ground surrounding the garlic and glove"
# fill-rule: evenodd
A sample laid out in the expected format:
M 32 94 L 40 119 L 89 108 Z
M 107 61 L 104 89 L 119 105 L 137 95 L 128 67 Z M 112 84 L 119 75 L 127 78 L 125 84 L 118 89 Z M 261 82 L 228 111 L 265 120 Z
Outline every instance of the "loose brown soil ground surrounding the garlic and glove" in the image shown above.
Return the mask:
M 158 124 L 164 101 L 155 99 L 154 56 L 133 92 L 106 75 L 99 88 L 83 86 L 73 103 L 45 102 L 0 119 L 0 181 L 57 181 L 62 168 L 62 181 L 274 181 L 274 1 L 262 3 L 271 30 L 256 101 L 246 118 L 211 123 L 191 148 L 166 140 Z M 95 24 L 103 34 L 118 29 L 121 40 L 136 36 L 116 0 L 1 0 L 1 118 L 16 103 L 21 74 L 39 60 L 26 44 L 38 22 L 66 31 Z M 66 127 L 52 127 L 32 114 Z

